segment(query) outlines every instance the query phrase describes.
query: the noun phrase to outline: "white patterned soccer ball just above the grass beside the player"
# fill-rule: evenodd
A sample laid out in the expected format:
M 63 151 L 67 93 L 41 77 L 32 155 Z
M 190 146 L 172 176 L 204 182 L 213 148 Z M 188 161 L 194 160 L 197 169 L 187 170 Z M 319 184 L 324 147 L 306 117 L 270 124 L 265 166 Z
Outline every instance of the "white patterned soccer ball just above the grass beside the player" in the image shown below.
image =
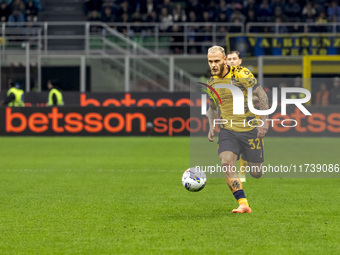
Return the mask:
M 207 177 L 203 171 L 195 167 L 187 169 L 182 176 L 182 184 L 189 191 L 200 191 L 204 188 Z

